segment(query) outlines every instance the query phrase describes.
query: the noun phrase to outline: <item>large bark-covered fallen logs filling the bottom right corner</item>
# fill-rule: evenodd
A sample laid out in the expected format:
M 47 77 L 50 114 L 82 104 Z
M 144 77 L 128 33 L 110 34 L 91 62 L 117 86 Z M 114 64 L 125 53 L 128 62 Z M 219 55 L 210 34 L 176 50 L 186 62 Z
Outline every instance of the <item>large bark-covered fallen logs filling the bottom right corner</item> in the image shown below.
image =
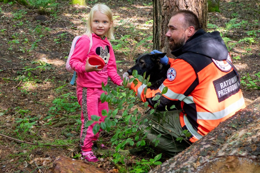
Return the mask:
M 149 173 L 260 172 L 260 98 Z

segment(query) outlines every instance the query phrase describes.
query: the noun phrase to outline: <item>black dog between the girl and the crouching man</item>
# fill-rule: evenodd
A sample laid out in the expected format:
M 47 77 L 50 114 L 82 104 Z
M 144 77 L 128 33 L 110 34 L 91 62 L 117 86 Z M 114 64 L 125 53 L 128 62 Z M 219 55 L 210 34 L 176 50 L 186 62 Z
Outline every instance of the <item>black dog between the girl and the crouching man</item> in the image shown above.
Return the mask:
M 145 78 L 150 75 L 149 81 L 151 82 L 151 87 L 158 88 L 167 77 L 167 71 L 170 65 L 162 65 L 160 63 L 160 58 L 163 58 L 166 53 L 147 53 L 140 55 L 135 60 L 135 65 L 131 67 L 127 72 L 132 75 L 133 70 L 143 76 L 146 72 Z

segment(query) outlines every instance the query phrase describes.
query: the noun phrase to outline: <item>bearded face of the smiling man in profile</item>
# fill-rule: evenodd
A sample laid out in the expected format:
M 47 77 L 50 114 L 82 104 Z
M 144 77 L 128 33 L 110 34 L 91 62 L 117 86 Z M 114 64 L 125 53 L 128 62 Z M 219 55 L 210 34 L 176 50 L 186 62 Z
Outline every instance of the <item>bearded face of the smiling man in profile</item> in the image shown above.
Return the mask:
M 172 16 L 168 23 L 168 32 L 165 34 L 169 40 L 169 48 L 174 51 L 182 47 L 188 40 L 186 29 L 183 26 L 184 16 L 177 14 Z

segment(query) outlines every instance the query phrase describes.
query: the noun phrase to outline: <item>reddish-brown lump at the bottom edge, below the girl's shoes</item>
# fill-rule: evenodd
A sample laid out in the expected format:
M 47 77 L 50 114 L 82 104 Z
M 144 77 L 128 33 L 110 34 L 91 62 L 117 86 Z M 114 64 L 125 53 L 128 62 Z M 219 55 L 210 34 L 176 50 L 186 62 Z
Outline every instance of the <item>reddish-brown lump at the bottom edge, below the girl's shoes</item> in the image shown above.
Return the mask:
M 48 169 L 47 173 L 105 173 L 86 161 L 59 156 Z

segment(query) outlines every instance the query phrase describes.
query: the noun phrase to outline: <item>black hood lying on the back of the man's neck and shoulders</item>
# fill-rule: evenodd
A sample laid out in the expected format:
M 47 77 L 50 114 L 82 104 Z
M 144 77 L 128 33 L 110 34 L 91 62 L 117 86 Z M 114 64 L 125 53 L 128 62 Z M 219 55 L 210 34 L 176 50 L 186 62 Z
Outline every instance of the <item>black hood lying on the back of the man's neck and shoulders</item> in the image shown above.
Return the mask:
M 203 29 L 198 30 L 181 48 L 172 51 L 172 55 L 178 57 L 189 52 L 215 60 L 226 60 L 228 57 L 227 47 L 219 32 L 206 33 Z

